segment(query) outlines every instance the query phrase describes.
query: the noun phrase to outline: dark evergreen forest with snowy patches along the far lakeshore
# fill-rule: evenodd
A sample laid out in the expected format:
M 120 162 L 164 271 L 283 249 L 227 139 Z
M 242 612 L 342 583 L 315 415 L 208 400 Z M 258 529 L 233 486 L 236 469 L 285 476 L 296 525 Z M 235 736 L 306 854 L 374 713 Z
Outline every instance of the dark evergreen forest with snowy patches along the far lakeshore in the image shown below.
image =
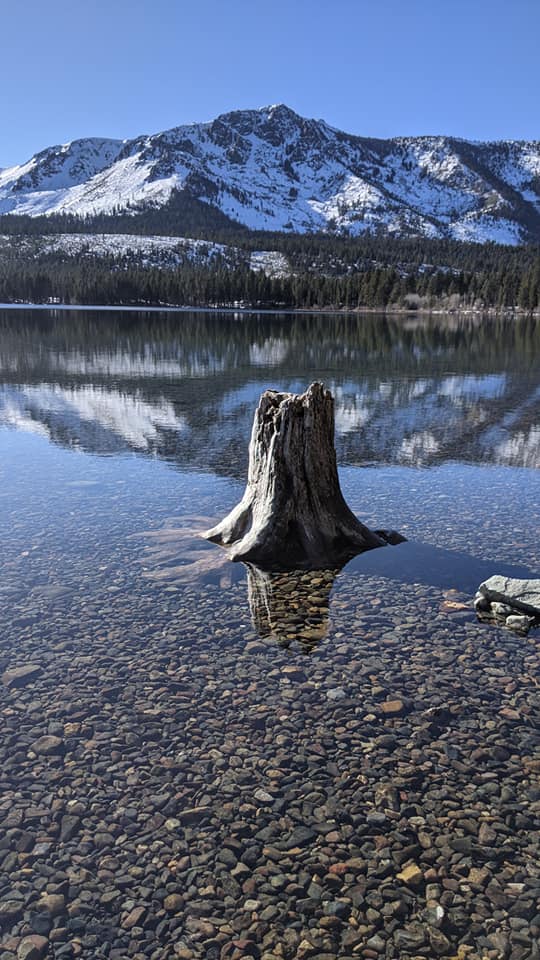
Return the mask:
M 116 227 L 116 232 L 112 229 Z M 71 252 L 51 243 L 80 233 L 159 237 L 150 217 L 0 217 L 0 301 L 287 309 L 540 309 L 540 247 L 366 235 L 289 235 L 204 229 L 211 256 L 186 247 L 175 262 L 140 250 L 107 253 L 92 238 Z M 166 224 L 169 231 L 174 226 Z M 202 233 L 189 224 L 192 234 Z M 128 228 L 131 228 L 128 230 Z M 168 232 L 167 237 L 175 236 Z M 185 237 L 185 233 L 178 241 Z M 88 239 L 88 238 L 87 238 Z M 194 240 L 201 239 L 195 236 Z M 47 242 L 45 242 L 47 241 Z M 192 240 L 189 241 L 193 243 Z M 217 245 L 217 246 L 216 246 Z M 106 247 L 106 244 L 105 244 Z M 279 267 L 254 266 L 272 254 Z

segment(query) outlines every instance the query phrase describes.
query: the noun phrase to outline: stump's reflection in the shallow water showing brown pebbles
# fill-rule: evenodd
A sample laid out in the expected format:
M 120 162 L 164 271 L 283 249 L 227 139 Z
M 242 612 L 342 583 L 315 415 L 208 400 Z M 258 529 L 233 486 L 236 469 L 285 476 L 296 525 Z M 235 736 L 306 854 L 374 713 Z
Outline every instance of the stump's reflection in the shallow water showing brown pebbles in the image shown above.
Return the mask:
M 246 564 L 253 626 L 262 639 L 313 650 L 328 634 L 330 593 L 339 570 L 271 573 Z

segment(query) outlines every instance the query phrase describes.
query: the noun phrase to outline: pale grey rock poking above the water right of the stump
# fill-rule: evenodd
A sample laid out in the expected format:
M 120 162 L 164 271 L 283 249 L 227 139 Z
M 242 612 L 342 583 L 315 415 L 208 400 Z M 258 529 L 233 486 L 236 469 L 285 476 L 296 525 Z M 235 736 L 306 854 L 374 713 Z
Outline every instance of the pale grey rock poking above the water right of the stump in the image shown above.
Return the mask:
M 540 580 L 490 577 L 478 587 L 474 606 L 480 619 L 499 620 L 527 633 L 540 624 Z

